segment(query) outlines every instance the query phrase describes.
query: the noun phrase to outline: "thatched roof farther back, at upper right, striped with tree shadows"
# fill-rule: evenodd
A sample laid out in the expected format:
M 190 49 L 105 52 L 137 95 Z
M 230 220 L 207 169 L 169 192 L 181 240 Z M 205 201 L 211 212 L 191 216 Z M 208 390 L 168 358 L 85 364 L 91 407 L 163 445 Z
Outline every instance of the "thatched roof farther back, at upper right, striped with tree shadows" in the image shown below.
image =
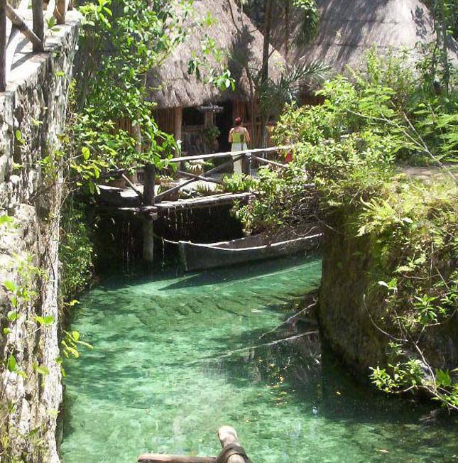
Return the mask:
M 430 11 L 418 0 L 317 0 L 320 19 L 317 34 L 307 45 L 291 47 L 288 62 L 320 60 L 342 72 L 349 65 L 361 67 L 373 46 L 384 54 L 390 48 L 413 49 L 418 42 L 435 39 Z M 292 37 L 298 36 L 300 18 L 292 15 Z M 282 15 L 276 15 L 274 45 L 285 51 Z M 450 43 L 454 55 L 456 43 Z

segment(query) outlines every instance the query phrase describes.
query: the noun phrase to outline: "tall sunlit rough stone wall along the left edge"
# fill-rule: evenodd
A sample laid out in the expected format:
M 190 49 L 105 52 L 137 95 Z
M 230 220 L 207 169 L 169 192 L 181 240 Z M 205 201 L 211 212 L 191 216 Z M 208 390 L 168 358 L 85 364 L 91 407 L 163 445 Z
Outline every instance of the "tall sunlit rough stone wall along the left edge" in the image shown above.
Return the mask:
M 6 92 L 0 93 L 0 437 L 5 462 L 11 455 L 15 461 L 59 461 L 62 183 L 58 161 L 50 178 L 40 160 L 53 156 L 64 130 L 79 26 L 80 16 L 72 11 L 65 26 L 48 33 L 45 53 L 32 54 L 30 45 L 20 45 Z

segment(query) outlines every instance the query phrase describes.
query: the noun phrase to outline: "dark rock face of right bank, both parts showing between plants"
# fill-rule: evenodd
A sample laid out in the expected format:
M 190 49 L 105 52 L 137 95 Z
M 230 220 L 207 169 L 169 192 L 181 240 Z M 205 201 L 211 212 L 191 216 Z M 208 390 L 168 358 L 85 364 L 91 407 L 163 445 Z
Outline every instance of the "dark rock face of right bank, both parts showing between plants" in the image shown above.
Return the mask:
M 319 306 L 322 332 L 352 371 L 367 381 L 369 367 L 384 366 L 387 361 L 390 339 L 378 328 L 396 334 L 396 329 L 384 325 L 386 305 L 384 292 L 376 284 L 381 270 L 376 244 L 366 236 L 354 236 L 341 219 L 326 234 Z M 422 349 L 434 368 L 456 368 L 457 316 L 428 330 Z

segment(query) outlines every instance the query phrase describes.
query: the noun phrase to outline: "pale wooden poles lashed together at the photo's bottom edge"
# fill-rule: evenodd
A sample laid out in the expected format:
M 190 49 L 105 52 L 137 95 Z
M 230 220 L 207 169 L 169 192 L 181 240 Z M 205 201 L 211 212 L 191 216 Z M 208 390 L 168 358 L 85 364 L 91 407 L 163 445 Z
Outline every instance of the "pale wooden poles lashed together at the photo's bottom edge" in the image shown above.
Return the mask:
M 219 428 L 217 434 L 222 447 L 217 457 L 145 453 L 138 457 L 138 463 L 249 463 L 249 457 L 241 447 L 234 427 L 224 425 Z

